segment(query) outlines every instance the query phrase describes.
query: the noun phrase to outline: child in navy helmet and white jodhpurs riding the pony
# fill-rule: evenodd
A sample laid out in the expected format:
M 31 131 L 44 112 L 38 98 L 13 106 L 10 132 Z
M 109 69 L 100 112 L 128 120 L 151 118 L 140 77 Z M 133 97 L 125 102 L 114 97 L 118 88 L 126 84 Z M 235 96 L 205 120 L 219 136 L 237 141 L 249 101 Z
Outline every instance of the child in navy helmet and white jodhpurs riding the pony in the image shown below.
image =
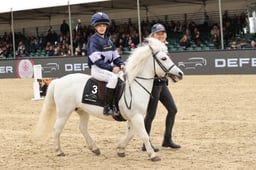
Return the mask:
M 91 18 L 91 25 L 95 28 L 95 34 L 87 44 L 88 65 L 92 77 L 107 82 L 103 114 L 114 115 L 113 95 L 118 82 L 116 73 L 124 68 L 124 61 L 108 36 L 109 16 L 97 12 Z

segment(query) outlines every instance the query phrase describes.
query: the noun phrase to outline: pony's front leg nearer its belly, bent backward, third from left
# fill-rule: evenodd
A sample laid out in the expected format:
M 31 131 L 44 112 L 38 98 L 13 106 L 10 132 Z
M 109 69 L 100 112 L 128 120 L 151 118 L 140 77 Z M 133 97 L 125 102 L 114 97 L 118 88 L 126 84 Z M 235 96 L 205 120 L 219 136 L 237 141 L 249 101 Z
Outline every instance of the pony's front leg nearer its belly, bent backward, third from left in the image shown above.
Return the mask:
M 133 136 L 134 128 L 131 124 L 131 121 L 128 121 L 126 135 L 120 140 L 117 147 L 117 155 L 119 157 L 125 157 L 125 148 L 128 145 L 129 141 L 133 138 Z

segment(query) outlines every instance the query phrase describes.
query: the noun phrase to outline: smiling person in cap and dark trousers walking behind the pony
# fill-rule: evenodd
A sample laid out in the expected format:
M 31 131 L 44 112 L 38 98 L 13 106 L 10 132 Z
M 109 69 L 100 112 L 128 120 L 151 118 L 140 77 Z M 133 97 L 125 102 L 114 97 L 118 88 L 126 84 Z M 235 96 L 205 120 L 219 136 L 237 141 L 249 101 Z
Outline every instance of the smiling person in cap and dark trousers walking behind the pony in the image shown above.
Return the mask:
M 156 38 L 161 42 L 166 43 L 167 34 L 166 34 L 165 27 L 159 23 L 153 25 L 153 27 L 151 28 L 150 37 Z M 146 117 L 144 120 L 145 128 L 148 134 L 150 135 L 151 125 L 156 114 L 158 100 L 160 100 L 160 102 L 164 105 L 164 107 L 168 111 L 166 120 L 165 120 L 165 133 L 164 133 L 164 140 L 163 140 L 162 146 L 171 147 L 174 149 L 180 148 L 180 145 L 175 144 L 172 140 L 172 129 L 175 121 L 175 115 L 177 113 L 177 108 L 173 100 L 173 97 L 168 89 L 168 79 L 166 77 L 163 77 L 163 78 L 155 77 L 154 85 L 152 89 L 152 96 L 153 98 L 150 98 Z M 159 150 L 153 145 L 152 147 L 155 151 Z M 142 147 L 142 150 L 145 150 L 144 145 Z

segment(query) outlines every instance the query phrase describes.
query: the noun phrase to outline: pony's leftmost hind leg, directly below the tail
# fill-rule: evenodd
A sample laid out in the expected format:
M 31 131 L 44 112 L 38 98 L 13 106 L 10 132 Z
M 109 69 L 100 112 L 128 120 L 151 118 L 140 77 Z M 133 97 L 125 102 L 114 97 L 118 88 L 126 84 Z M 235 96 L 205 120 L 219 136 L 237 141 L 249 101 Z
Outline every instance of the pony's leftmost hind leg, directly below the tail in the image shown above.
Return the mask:
M 55 151 L 56 151 L 56 155 L 57 156 L 65 156 L 64 152 L 62 152 L 61 150 L 61 146 L 60 146 L 60 134 L 69 118 L 69 116 L 72 113 L 71 111 L 64 111 L 65 109 L 58 109 L 56 107 L 56 121 L 54 124 L 54 145 L 55 145 Z

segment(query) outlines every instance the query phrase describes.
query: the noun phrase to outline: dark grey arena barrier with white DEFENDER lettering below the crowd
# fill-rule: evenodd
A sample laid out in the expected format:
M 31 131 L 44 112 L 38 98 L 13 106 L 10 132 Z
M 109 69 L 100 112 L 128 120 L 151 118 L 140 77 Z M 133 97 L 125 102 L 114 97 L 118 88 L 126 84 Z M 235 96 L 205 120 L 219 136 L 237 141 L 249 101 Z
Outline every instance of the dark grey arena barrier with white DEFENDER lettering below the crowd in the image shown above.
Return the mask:
M 185 75 L 256 74 L 256 50 L 209 50 L 171 53 Z M 122 55 L 124 60 L 128 55 Z M 87 57 L 42 57 L 1 60 L 1 78 L 32 78 L 33 65 L 40 64 L 42 76 L 59 78 L 72 73 L 90 74 Z

